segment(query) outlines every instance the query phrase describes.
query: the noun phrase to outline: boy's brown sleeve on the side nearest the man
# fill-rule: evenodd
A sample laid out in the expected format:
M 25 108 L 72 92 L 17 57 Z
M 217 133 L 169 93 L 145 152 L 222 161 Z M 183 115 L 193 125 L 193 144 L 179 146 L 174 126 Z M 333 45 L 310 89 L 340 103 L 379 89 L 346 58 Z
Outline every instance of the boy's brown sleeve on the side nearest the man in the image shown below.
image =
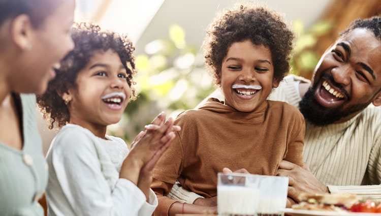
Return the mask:
M 303 145 L 304 145 L 304 133 L 305 122 L 303 115 L 295 108 L 295 121 L 290 126 L 290 141 L 287 143 L 287 152 L 284 160 L 294 163 L 303 167 Z

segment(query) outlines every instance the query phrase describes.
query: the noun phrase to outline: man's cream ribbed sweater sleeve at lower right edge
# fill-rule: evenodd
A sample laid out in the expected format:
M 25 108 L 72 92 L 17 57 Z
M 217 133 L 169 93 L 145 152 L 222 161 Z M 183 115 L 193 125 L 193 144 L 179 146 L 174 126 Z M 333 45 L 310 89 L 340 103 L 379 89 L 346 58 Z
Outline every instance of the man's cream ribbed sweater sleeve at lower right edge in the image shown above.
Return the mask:
M 376 139 L 369 156 L 367 174 L 372 185 L 365 186 L 328 186 L 331 194 L 350 193 L 362 199 L 381 202 L 381 137 Z

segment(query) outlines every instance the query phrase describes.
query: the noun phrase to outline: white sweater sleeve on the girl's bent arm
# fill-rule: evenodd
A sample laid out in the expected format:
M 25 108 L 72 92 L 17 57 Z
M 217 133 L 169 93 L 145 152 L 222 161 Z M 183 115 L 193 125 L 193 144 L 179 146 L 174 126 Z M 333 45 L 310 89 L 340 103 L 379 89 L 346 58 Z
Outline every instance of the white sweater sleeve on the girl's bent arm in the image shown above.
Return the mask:
M 116 216 L 126 212 L 138 215 L 146 201 L 143 192 L 123 178 L 117 180 L 111 191 L 89 137 L 74 131 L 60 138 L 52 155 L 52 165 L 65 197 L 55 199 L 66 199 L 68 207 L 77 215 Z

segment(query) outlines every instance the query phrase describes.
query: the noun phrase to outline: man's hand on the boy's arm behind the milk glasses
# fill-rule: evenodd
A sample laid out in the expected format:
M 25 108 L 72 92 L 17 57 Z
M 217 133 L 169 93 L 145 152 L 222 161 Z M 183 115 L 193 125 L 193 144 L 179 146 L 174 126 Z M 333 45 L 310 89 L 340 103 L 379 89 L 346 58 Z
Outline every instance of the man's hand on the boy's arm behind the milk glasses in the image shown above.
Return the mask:
M 296 201 L 300 193 L 329 193 L 328 187 L 322 184 L 304 164 L 300 167 L 288 161 L 281 161 L 276 171 L 277 176 L 289 177 L 288 196 Z

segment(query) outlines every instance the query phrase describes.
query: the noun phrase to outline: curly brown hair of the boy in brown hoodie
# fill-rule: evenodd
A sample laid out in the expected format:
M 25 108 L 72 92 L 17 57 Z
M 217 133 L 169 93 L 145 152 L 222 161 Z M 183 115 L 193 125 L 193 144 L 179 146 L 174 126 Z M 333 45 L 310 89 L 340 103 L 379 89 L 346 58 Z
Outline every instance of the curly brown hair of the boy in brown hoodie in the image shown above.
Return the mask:
M 289 72 L 289 55 L 294 34 L 277 13 L 257 3 L 237 4 L 215 17 L 203 43 L 205 63 L 219 86 L 222 61 L 235 42 L 250 40 L 271 51 L 274 78 L 282 80 Z

